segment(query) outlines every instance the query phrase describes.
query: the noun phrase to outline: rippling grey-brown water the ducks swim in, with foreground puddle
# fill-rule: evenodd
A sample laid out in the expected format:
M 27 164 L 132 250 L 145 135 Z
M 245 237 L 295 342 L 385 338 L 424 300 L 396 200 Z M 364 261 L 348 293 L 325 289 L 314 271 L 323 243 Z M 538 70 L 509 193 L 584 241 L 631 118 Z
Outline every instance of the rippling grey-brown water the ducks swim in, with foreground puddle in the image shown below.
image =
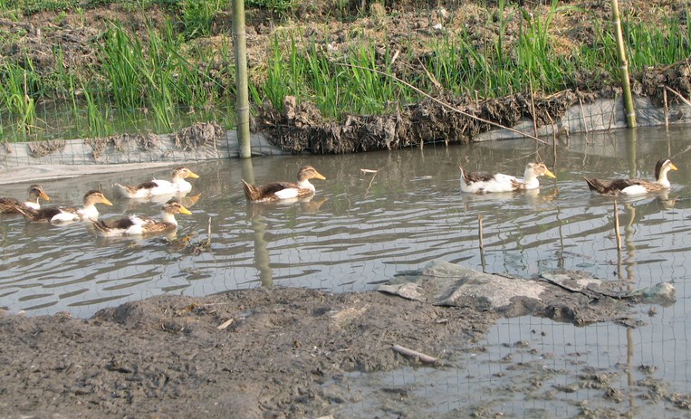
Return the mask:
M 677 303 L 656 307 L 653 317 L 648 316 L 648 306 L 633 308 L 629 315 L 646 323 L 633 331 L 614 324 L 573 328 L 545 319 L 504 320 L 484 342 L 494 350 L 469 360 L 463 375 L 484 376 L 492 368 L 488 365 L 501 369 L 506 352 L 519 351 L 510 348 L 519 340 L 514 337 L 523 336 L 540 349 L 539 354 L 556 352 L 568 358 L 578 352 L 590 367 L 655 366 L 655 376 L 666 380 L 672 391 L 689 393 L 691 347 L 685 319 L 691 314 L 691 307 L 686 309 L 691 296 L 686 286 L 691 267 L 691 147 L 686 135 L 687 129 L 675 128 L 561 138 L 553 167 L 558 179 L 542 178 L 535 194 L 478 196 L 459 190 L 459 163 L 469 170 L 522 174 L 524 165 L 539 155 L 552 167 L 552 146 L 536 146 L 530 140 L 194 164 L 191 168 L 201 178 L 191 180 L 193 193 L 202 195 L 190 208 L 192 215 L 178 216 L 178 237 L 194 234 L 192 243 L 206 239 L 211 217 L 210 252 L 180 251 L 160 238 L 102 240 L 84 225 L 25 224 L 21 218 L 0 216 L 0 306 L 33 315 L 70 311 L 87 318 L 98 309 L 159 294 L 202 296 L 272 285 L 371 290 L 394 273 L 420 268 L 435 258 L 524 277 L 551 268 L 586 271 L 602 280 L 627 279 L 630 289 L 672 281 Z M 661 157 L 672 157 L 679 167 L 670 173 L 670 193 L 619 199 L 619 269 L 613 199 L 591 195 L 581 176 L 650 178 Z M 327 177 L 313 181 L 318 193 L 312 201 L 245 203 L 240 179 L 248 165 L 254 166 L 254 179 L 261 183 L 293 180 L 305 164 Z M 362 173 L 361 168 L 379 171 Z M 112 184 L 167 178 L 170 171 L 140 170 L 42 185 L 61 205 L 80 203 L 88 189 L 103 190 L 114 203 L 100 207 L 104 219 L 131 212 L 157 215 L 158 205 L 115 196 Z M 26 187 L 5 186 L 0 195 L 24 196 Z M 478 215 L 483 217 L 484 258 L 478 251 Z M 536 328 L 549 333 L 538 335 L 538 341 Z M 475 362 L 480 358 L 482 363 Z M 455 379 L 439 378 L 453 383 L 444 387 L 448 403 L 442 411 L 452 411 L 466 397 L 467 389 L 457 384 L 455 374 Z M 497 412 L 525 414 L 523 402 L 515 403 L 519 406 Z M 438 413 L 439 406 L 435 409 Z M 552 414 L 572 410 L 567 404 Z

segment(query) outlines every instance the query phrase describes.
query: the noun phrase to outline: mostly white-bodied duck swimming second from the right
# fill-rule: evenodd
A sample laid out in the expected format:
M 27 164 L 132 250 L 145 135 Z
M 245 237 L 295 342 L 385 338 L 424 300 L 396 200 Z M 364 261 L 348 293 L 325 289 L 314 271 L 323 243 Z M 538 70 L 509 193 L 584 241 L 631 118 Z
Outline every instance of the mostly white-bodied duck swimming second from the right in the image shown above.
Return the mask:
M 528 163 L 525 166 L 523 179 L 503 173 L 479 174 L 461 169 L 461 191 L 469 194 L 486 194 L 490 192 L 513 192 L 537 189 L 540 187 L 539 176 L 556 178 L 544 163 Z

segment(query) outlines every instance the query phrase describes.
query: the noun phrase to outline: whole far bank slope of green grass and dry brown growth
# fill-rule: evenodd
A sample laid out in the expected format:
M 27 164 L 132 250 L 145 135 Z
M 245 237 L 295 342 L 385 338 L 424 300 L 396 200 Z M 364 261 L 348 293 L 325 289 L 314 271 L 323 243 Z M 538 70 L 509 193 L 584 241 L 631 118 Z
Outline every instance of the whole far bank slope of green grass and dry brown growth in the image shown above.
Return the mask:
M 394 2 L 387 11 L 378 3 L 358 8 L 336 0 L 320 9 L 302 1 L 245 2 L 247 24 L 261 28 L 267 40 L 249 52 L 255 109 L 266 101 L 280 109 L 292 95 L 340 119 L 420 99 L 396 78 L 434 96 L 468 100 L 618 84 L 609 10 L 586 9 L 585 3 L 479 0 L 445 9 L 413 1 L 398 8 Z M 0 31 L 0 138 L 170 132 L 212 119 L 232 128 L 230 7 L 229 0 L 0 0 L 0 26 L 11 29 Z M 691 55 L 687 5 L 657 7 L 669 10 L 658 10 L 663 17 L 656 22 L 624 12 L 634 77 Z M 91 12 L 99 8 L 119 13 L 96 30 Z M 407 30 L 397 31 L 394 21 L 408 22 Z M 91 32 L 74 31 L 80 24 Z M 81 65 L 68 59 L 73 52 L 67 44 L 54 41 L 67 39 L 66 29 L 82 36 L 80 53 L 88 59 Z M 37 52 L 46 39 L 52 40 L 48 48 Z

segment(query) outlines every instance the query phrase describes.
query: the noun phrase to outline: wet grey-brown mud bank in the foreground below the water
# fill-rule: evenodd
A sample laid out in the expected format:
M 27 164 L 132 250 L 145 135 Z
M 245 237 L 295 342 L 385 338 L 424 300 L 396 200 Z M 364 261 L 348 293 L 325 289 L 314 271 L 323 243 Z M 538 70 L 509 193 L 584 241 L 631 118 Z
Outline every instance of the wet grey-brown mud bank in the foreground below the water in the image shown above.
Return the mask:
M 635 302 L 544 287 L 542 302 L 513 299 L 501 310 L 377 291 L 257 288 L 155 297 L 86 320 L 5 314 L 0 416 L 343 417 L 358 402 L 348 372 L 420 365 L 394 345 L 444 365 L 501 315 L 626 323 Z

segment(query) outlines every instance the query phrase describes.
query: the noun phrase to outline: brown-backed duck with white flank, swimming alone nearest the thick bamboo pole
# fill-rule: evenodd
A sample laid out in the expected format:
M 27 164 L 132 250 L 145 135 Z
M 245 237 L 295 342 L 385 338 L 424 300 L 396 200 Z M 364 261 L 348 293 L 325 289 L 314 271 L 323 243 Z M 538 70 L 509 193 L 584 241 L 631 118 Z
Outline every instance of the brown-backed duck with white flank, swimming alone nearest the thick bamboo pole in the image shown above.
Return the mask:
M 245 197 L 249 202 L 273 202 L 284 199 L 302 198 L 316 192 L 310 179 L 326 180 L 326 177 L 312 166 L 301 167 L 297 176 L 297 183 L 272 182 L 262 186 L 255 186 L 242 179 Z

